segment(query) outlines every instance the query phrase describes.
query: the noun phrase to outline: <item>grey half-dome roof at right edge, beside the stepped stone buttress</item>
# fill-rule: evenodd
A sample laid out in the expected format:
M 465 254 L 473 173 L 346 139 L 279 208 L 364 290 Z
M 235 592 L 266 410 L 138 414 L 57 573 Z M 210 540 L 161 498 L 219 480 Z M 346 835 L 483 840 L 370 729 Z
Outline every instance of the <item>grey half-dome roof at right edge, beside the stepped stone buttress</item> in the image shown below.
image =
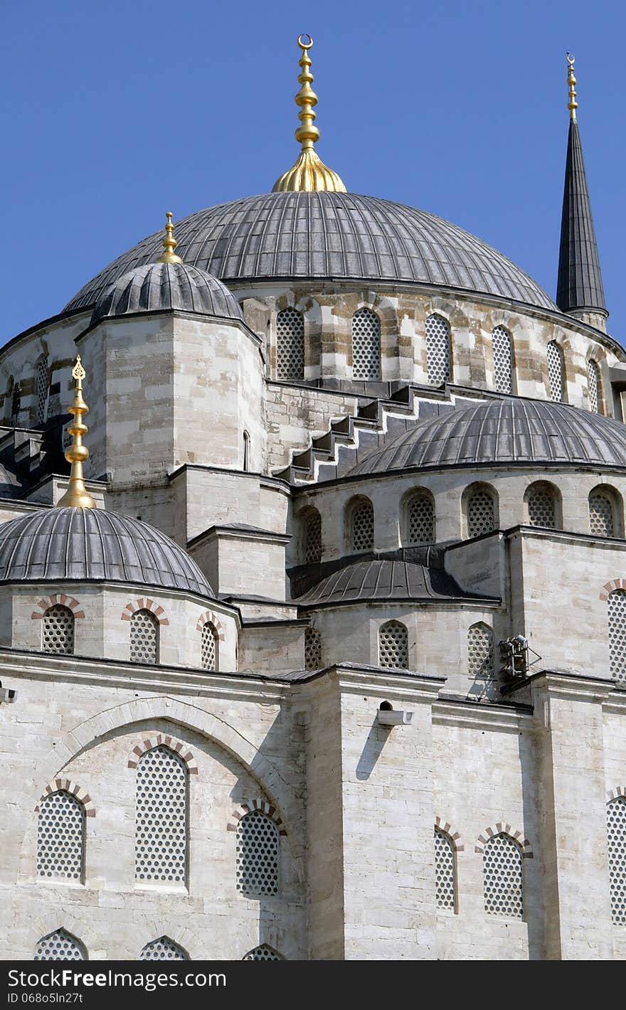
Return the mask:
M 564 403 L 503 398 L 417 424 L 368 452 L 345 476 L 534 463 L 626 467 L 626 425 Z

